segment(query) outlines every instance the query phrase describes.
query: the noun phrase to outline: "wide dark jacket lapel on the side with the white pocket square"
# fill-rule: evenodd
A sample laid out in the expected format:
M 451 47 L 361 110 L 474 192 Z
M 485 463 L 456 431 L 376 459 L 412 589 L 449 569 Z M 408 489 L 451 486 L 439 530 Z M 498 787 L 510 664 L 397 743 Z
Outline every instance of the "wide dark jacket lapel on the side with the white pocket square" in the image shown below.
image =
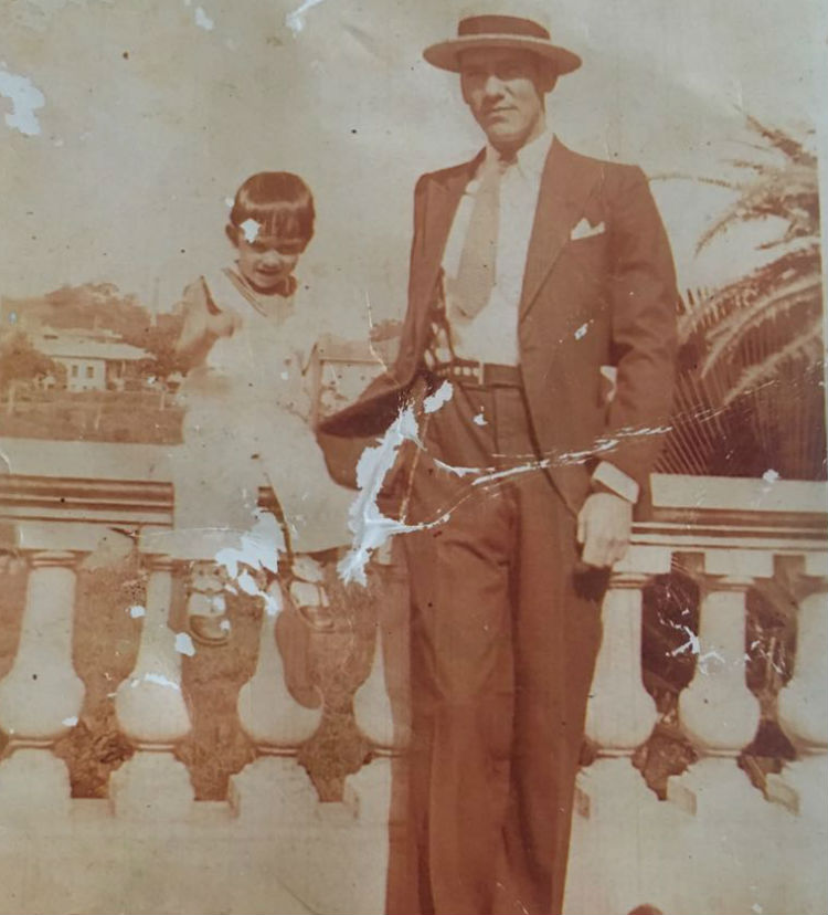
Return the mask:
M 601 164 L 576 156 L 555 138 L 546 157 L 527 254 L 521 316 L 531 307 L 570 232 L 602 178 Z

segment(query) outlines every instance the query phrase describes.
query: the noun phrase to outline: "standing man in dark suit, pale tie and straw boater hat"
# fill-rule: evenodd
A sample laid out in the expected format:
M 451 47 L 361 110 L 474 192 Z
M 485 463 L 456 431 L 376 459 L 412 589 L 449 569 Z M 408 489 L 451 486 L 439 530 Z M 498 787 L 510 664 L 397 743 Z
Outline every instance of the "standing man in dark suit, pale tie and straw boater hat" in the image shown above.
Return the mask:
M 469 13 L 424 55 L 459 73 L 486 146 L 417 182 L 399 358 L 320 428 L 344 480 L 360 437 L 450 385 L 397 474 L 421 527 L 389 908 L 559 913 L 601 601 L 671 406 L 672 259 L 640 169 L 551 133 L 581 61 L 537 15 Z

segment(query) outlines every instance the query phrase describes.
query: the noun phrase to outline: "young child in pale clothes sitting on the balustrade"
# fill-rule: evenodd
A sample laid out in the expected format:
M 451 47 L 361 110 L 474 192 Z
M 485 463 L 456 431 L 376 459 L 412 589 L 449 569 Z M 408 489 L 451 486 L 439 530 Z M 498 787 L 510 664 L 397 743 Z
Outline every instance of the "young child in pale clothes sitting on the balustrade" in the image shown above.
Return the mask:
M 254 525 L 259 485 L 272 488 L 285 535 L 279 578 L 316 627 L 330 622 L 323 566 L 349 540 L 353 494 L 328 476 L 310 429 L 306 371 L 322 324 L 294 276 L 314 235 L 314 199 L 284 171 L 261 172 L 238 189 L 227 239 L 235 263 L 184 291 L 177 350 L 189 365 L 184 454 L 174 474 L 176 528 L 214 556 L 229 534 Z M 189 536 L 188 534 L 188 536 Z M 190 588 L 193 638 L 221 644 L 229 623 L 216 567 L 201 561 Z

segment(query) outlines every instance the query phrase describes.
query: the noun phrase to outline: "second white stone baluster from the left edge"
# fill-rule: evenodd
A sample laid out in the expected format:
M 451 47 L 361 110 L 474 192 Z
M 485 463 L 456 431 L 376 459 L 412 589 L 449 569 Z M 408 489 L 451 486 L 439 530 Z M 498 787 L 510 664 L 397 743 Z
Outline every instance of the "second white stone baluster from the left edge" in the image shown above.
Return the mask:
M 190 732 L 181 692 L 181 655 L 169 627 L 173 562 L 146 556 L 149 569 L 141 640 L 132 673 L 118 686 L 115 711 L 138 753 L 113 774 L 112 796 L 119 811 L 174 817 L 189 808 L 187 768 L 171 750 Z

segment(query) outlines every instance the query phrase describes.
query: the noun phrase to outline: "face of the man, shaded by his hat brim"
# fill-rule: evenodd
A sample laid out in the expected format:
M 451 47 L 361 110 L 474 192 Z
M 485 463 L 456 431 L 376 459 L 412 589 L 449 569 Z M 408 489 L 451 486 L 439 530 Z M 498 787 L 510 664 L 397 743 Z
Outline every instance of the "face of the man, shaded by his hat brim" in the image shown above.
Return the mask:
M 529 51 L 476 49 L 460 57 L 466 104 L 497 149 L 519 149 L 543 127 L 544 75 Z

